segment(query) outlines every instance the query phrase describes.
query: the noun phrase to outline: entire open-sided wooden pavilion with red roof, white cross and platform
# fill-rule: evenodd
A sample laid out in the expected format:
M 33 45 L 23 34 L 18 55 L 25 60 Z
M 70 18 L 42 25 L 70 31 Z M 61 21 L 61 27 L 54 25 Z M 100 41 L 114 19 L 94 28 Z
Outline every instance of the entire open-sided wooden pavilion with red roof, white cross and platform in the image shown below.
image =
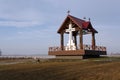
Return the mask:
M 49 55 L 55 55 L 57 58 L 81 59 L 107 54 L 106 47 L 96 45 L 95 34 L 98 31 L 93 28 L 90 20 L 82 20 L 68 14 L 57 33 L 60 34 L 60 46 L 49 47 Z M 64 34 L 69 35 L 67 45 L 64 44 Z M 92 36 L 91 45 L 83 44 L 83 35 L 87 34 Z

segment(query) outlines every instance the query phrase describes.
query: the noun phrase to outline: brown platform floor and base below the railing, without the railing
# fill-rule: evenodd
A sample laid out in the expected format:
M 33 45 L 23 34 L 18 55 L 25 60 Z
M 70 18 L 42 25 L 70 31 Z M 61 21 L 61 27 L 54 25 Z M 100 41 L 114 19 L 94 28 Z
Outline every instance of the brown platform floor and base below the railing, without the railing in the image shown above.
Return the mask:
M 56 56 L 57 59 L 87 59 L 99 58 L 100 55 L 106 55 L 106 51 L 96 50 L 69 50 L 69 51 L 49 51 L 49 55 Z

